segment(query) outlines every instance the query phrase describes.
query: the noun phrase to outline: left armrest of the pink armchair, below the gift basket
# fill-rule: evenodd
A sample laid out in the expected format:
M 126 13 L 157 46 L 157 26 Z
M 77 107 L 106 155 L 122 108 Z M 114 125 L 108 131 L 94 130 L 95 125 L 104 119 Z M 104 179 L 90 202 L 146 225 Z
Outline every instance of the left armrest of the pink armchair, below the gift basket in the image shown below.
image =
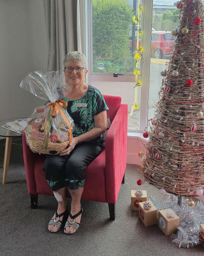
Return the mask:
M 37 157 L 36 153 L 30 150 L 29 145 L 26 142 L 25 134 L 22 134 L 22 150 L 23 160 L 25 166 L 25 176 L 27 179 L 29 194 L 36 194 L 35 176 L 34 176 L 34 163 Z

